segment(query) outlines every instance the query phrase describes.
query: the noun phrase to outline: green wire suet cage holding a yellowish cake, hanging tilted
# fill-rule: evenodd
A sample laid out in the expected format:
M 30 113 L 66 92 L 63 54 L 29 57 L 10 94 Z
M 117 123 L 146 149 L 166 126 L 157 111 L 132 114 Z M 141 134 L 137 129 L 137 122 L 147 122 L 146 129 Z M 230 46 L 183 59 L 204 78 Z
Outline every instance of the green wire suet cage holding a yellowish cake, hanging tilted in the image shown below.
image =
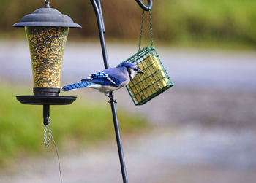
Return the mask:
M 174 85 L 154 47 L 144 47 L 124 62 L 135 63 L 144 71 L 144 74 L 137 74 L 127 85 L 135 105 L 145 104 Z

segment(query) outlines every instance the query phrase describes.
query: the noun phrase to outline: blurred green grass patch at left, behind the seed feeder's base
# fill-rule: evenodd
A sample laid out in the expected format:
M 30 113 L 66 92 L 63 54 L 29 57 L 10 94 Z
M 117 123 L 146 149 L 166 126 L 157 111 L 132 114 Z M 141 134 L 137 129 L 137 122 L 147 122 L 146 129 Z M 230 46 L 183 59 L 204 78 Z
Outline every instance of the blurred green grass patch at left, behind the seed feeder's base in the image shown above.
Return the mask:
M 21 88 L 21 89 L 19 89 Z M 28 94 L 22 87 L 1 82 L 0 93 L 0 166 L 23 155 L 42 155 L 42 106 L 20 104 L 15 96 Z M 68 106 L 50 106 L 53 137 L 64 151 L 84 149 L 114 138 L 113 120 L 108 104 L 78 100 Z M 135 133 L 146 127 L 140 117 L 118 112 L 122 133 Z M 50 142 L 52 144 L 52 141 Z

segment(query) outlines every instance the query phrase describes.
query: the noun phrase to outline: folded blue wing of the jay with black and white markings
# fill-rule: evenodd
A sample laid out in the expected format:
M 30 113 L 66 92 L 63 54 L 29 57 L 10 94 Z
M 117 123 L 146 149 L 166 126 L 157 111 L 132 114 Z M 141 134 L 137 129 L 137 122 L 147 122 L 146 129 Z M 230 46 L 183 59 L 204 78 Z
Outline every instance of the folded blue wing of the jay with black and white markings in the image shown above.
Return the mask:
M 94 82 L 95 84 L 100 85 L 110 85 L 118 87 L 123 81 L 117 79 L 116 77 L 106 74 L 104 71 L 99 71 L 97 73 L 89 75 L 86 79 L 82 79 L 82 82 Z

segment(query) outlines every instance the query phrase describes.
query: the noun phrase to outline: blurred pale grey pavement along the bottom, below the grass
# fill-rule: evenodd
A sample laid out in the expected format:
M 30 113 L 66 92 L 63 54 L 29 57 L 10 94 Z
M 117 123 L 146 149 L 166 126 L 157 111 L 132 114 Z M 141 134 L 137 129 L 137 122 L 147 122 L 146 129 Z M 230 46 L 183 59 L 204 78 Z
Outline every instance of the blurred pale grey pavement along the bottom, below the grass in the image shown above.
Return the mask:
M 132 183 L 254 183 L 255 132 L 219 129 L 157 128 L 124 139 Z M 86 147 L 85 147 L 86 148 Z M 59 182 L 56 157 L 23 160 L 0 176 L 1 183 Z M 120 183 L 115 141 L 86 152 L 61 155 L 64 182 Z

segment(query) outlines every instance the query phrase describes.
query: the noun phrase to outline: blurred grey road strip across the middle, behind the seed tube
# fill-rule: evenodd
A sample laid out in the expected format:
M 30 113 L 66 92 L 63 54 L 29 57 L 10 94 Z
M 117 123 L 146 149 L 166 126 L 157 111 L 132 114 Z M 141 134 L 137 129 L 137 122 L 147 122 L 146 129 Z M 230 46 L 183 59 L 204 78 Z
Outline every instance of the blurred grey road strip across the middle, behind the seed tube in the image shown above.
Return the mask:
M 107 44 L 110 66 L 137 51 L 133 45 Z M 159 47 L 161 60 L 176 87 L 256 90 L 256 53 L 179 50 Z M 29 46 L 26 42 L 0 41 L 0 77 L 31 81 Z M 62 83 L 87 77 L 103 68 L 100 45 L 69 43 L 64 52 Z

